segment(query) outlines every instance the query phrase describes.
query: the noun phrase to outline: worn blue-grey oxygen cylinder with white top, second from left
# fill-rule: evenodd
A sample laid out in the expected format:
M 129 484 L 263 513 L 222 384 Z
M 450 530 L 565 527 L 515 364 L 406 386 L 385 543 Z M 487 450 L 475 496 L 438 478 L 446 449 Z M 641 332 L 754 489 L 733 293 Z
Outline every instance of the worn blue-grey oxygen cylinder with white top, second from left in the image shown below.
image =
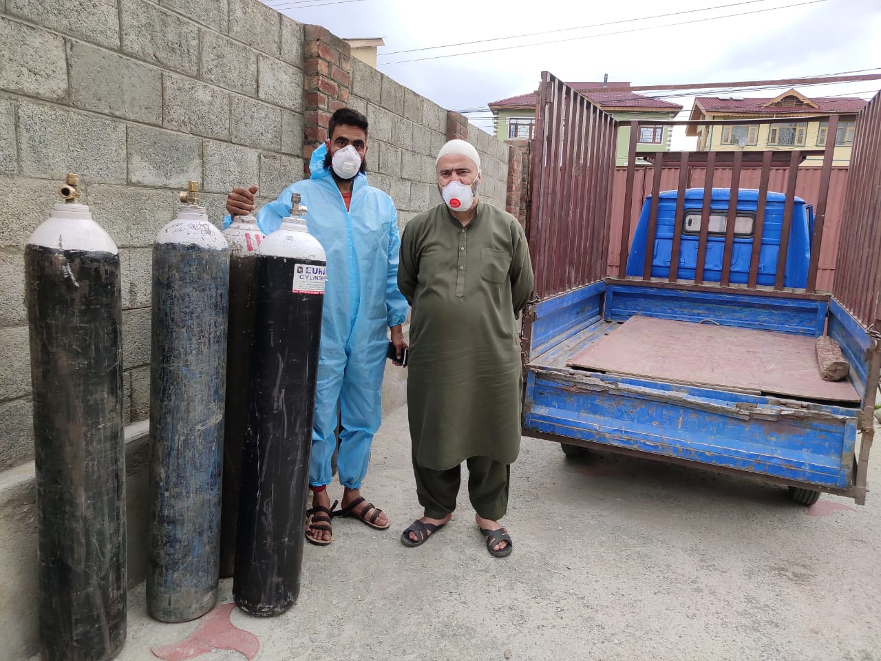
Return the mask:
M 195 620 L 217 599 L 229 248 L 196 182 L 153 245 L 147 610 Z

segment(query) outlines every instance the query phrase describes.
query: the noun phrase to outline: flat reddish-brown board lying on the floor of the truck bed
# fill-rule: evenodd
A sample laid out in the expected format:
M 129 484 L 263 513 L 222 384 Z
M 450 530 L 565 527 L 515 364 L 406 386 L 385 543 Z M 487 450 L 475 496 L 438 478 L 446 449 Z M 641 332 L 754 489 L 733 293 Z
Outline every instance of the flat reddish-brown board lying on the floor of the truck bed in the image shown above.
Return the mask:
M 861 400 L 849 382 L 820 377 L 814 338 L 707 323 L 633 316 L 566 365 L 785 397 Z

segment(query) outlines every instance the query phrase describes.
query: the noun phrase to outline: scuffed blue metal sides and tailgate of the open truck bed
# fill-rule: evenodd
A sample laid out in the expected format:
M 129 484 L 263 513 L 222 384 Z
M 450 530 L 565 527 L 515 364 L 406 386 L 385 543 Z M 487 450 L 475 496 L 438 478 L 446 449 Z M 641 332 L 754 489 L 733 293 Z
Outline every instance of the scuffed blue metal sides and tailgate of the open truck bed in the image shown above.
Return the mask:
M 834 301 L 597 282 L 541 301 L 523 406 L 524 434 L 701 464 L 788 486 L 854 495 L 858 403 L 566 367 L 634 315 L 818 337 L 825 329 L 865 390 L 870 338 Z M 857 490 L 858 491 L 858 490 Z

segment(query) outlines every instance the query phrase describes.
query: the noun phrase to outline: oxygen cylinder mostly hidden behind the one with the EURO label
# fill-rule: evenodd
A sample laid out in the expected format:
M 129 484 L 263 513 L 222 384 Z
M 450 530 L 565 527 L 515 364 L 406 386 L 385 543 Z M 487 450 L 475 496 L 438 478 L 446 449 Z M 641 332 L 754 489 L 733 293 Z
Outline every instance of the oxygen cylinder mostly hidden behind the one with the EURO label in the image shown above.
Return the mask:
M 248 385 L 254 343 L 257 249 L 265 238 L 254 216 L 234 216 L 224 231 L 230 248 L 229 331 L 226 343 L 226 424 L 220 509 L 220 577 L 233 576 L 239 524 L 241 446 L 248 425 Z

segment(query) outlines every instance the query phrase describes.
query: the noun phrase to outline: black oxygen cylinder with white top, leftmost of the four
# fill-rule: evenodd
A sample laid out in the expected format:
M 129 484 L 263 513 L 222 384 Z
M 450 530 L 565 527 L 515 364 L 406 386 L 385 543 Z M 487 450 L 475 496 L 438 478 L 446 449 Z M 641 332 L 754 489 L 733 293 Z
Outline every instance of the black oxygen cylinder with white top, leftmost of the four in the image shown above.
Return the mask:
M 25 248 L 44 661 L 112 658 L 126 633 L 119 252 L 77 185 Z

